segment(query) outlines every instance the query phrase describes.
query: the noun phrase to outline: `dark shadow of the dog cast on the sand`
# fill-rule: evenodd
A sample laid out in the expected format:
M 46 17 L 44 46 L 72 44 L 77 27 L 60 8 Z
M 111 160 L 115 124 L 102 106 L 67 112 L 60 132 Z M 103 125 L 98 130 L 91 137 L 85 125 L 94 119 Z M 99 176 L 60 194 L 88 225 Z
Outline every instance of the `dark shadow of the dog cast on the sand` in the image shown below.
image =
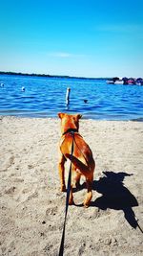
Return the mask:
M 137 199 L 123 184 L 124 178 L 131 175 L 124 172 L 117 174 L 103 172 L 103 174 L 103 177 L 100 177 L 99 180 L 94 180 L 92 183 L 92 190 L 102 194 L 102 196 L 92 201 L 91 206 L 102 210 L 107 210 L 108 208 L 122 210 L 126 221 L 133 228 L 139 227 L 133 212 L 133 207 L 138 206 Z M 84 186 L 85 184 L 82 185 L 82 187 Z M 140 227 L 139 229 L 143 232 Z

